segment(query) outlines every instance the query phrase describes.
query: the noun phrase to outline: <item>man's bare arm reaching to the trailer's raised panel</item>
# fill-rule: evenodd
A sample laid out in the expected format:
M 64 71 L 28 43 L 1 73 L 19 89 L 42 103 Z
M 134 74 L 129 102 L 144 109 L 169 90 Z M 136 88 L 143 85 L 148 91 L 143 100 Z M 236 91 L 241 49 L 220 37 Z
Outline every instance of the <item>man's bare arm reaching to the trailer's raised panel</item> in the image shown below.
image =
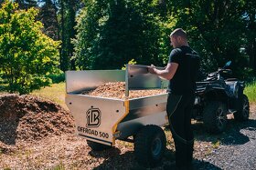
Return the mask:
M 149 73 L 158 75 L 160 78 L 164 78 L 167 80 L 171 80 L 176 74 L 178 64 L 176 63 L 168 63 L 166 65 L 165 70 L 158 70 L 154 65 L 148 68 Z

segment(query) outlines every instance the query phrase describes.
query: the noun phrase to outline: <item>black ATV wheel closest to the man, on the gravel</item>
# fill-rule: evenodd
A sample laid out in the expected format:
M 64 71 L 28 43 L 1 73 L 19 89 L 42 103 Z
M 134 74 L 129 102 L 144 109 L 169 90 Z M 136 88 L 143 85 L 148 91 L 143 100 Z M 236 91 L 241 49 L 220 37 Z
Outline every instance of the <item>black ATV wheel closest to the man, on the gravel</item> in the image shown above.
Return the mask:
M 203 122 L 209 133 L 223 132 L 227 125 L 227 106 L 217 101 L 209 102 L 204 108 Z

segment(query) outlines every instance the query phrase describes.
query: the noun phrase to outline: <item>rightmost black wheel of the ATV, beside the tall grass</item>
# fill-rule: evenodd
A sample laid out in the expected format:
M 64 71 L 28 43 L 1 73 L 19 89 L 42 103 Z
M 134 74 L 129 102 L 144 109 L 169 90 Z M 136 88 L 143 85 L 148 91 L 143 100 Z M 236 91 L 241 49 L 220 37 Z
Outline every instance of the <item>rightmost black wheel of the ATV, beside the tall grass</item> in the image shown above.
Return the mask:
M 250 104 L 248 97 L 246 95 L 242 95 L 239 99 L 238 103 L 238 111 L 234 113 L 234 117 L 238 121 L 245 121 L 249 119 L 250 115 Z

